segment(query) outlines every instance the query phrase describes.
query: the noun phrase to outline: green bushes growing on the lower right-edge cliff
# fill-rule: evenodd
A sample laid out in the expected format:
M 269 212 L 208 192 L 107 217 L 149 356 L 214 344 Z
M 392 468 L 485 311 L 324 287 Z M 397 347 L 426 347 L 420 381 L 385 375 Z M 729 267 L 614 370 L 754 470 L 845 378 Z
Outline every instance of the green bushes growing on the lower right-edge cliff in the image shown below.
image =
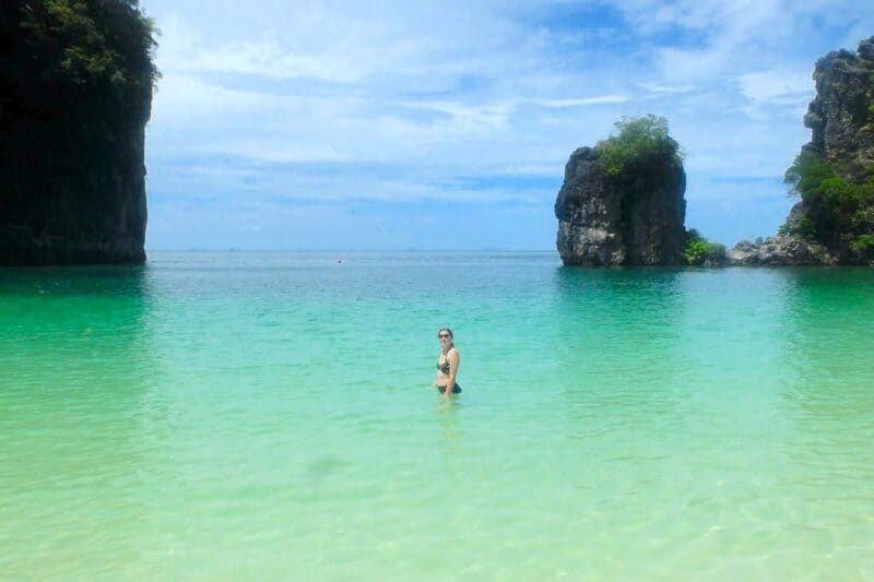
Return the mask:
M 804 202 L 805 215 L 782 234 L 798 235 L 831 249 L 849 249 L 857 261 L 874 260 L 874 167 L 853 182 L 841 168 L 816 152 L 802 150 L 786 173 L 786 182 Z

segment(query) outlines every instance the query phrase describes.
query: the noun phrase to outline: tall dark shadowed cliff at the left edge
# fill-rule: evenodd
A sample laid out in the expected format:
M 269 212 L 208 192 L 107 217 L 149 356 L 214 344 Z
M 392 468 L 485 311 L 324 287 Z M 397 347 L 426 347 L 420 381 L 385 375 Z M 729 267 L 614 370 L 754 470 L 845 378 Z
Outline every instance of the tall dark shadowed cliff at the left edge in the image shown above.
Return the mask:
M 153 47 L 133 0 L 0 9 L 0 265 L 145 260 Z

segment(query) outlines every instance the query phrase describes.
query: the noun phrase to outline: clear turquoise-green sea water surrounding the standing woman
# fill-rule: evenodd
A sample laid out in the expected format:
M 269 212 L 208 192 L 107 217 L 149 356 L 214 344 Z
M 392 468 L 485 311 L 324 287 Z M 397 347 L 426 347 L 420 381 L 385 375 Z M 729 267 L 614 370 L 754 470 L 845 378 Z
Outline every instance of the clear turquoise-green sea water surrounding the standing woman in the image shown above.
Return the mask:
M 0 578 L 874 578 L 874 270 L 343 258 L 0 271 Z

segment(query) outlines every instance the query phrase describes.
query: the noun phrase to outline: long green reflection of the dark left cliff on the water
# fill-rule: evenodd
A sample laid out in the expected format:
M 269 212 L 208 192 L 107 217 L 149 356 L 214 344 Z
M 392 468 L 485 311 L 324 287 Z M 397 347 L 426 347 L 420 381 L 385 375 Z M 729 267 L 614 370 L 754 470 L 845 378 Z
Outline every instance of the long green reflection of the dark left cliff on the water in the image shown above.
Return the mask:
M 140 550 L 147 280 L 146 266 L 0 270 L 0 499 L 14 500 L 0 502 L 0 571 L 13 578 Z

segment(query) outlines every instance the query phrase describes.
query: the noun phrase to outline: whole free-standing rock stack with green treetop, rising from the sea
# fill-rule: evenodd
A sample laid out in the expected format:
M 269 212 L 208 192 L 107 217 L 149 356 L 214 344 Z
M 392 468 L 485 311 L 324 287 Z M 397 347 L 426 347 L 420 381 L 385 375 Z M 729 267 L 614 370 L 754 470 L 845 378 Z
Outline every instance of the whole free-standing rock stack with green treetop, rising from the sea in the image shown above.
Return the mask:
M 618 126 L 623 131 L 617 136 L 578 149 L 565 166 L 555 201 L 562 261 L 682 264 L 686 174 L 678 146 L 668 136 L 663 119 Z

